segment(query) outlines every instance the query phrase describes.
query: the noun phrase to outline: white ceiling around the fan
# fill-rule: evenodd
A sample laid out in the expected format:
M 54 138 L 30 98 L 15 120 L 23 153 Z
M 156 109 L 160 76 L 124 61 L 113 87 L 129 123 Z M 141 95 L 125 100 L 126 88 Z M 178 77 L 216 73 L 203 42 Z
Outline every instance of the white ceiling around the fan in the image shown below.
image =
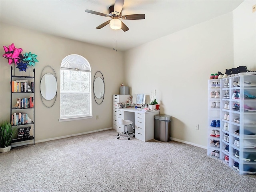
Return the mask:
M 109 20 L 86 13 L 108 14 L 115 0 L 1 0 L 0 19 L 47 34 L 128 50 L 157 38 L 231 12 L 244 0 L 125 0 L 122 15 L 146 14 L 144 20 L 122 20 L 130 30 L 112 30 Z

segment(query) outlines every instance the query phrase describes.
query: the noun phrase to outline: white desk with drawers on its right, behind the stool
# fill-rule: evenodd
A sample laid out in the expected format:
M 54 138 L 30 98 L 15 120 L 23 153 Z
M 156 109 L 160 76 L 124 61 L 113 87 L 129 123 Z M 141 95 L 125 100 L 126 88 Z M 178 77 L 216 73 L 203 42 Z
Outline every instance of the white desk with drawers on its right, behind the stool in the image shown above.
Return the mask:
M 154 139 L 154 116 L 159 114 L 159 110 L 142 112 L 135 108 L 116 109 L 116 131 L 123 132 L 124 125 L 118 123 L 118 118 L 131 120 L 135 128 L 135 138 L 148 141 Z

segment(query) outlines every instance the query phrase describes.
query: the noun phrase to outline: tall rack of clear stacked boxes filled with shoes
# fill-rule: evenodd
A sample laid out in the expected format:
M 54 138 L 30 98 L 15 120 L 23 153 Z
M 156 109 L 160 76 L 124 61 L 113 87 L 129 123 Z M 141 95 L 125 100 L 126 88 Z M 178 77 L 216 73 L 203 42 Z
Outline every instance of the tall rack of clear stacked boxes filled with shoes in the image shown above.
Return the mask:
M 210 82 L 214 80 L 208 80 L 208 90 L 212 90 Z M 233 84 L 239 81 L 240 86 L 234 87 Z M 256 75 L 238 75 L 231 76 L 230 78 L 220 79 L 220 110 L 216 115 L 220 115 L 220 160 L 223 160 L 228 166 L 233 168 L 239 174 L 256 174 L 256 159 L 251 161 L 245 160 L 248 154 L 256 156 L 256 112 L 244 110 L 244 105 L 256 108 L 256 86 L 244 86 L 244 82 L 251 82 L 256 84 Z M 229 87 L 228 86 L 229 83 Z M 229 98 L 226 94 L 229 92 Z M 239 92 L 240 97 L 234 98 L 233 94 Z M 252 98 L 248 98 L 248 93 Z M 213 149 L 210 146 L 211 136 L 211 119 L 214 117 L 213 112 L 218 112 L 218 109 L 213 110 L 211 108 L 212 99 L 209 98 L 208 106 L 208 155 L 211 156 Z M 229 109 L 225 108 L 225 104 L 229 104 Z M 240 110 L 233 110 L 234 104 L 239 104 Z M 227 106 L 227 105 L 226 105 Z M 239 119 L 239 122 L 237 120 Z M 228 124 L 228 128 L 227 125 Z M 225 126 L 225 127 L 224 127 Z M 239 135 L 235 133 L 239 129 Z M 244 134 L 250 131 L 255 135 Z M 227 140 L 228 134 L 228 140 Z M 237 141 L 239 143 L 237 144 Z M 248 145 L 249 143 L 249 145 Z M 228 152 L 225 150 L 228 145 Z M 239 152 L 239 157 L 236 152 Z M 225 160 L 225 156 L 228 156 L 228 162 Z M 239 168 L 235 168 L 234 164 L 239 163 Z

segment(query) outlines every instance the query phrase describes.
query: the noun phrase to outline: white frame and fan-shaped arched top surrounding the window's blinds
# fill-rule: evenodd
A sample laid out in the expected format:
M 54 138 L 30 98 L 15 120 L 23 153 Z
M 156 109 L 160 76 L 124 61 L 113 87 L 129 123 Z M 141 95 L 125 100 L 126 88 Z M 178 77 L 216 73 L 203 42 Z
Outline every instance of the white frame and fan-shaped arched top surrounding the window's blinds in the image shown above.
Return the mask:
M 60 97 L 60 119 L 59 119 L 59 122 L 92 118 L 92 83 L 91 83 L 92 82 L 92 74 L 91 74 L 90 63 L 83 56 L 80 56 L 78 54 L 72 54 L 72 55 L 66 56 L 62 60 L 61 66 L 60 66 L 60 72 L 62 70 L 78 70 L 78 71 L 84 71 L 84 72 L 90 73 L 90 77 L 89 77 L 89 85 L 90 85 L 89 100 L 90 101 L 89 101 L 89 114 L 87 114 L 87 115 L 81 114 L 81 115 L 78 115 L 77 117 L 74 117 L 74 116 L 64 117 L 64 116 L 61 116 L 61 97 Z M 62 80 L 60 79 L 59 82 L 60 82 L 60 87 L 62 87 L 62 83 L 63 83 Z M 60 88 L 60 95 L 62 93 L 64 93 L 64 92 Z M 73 93 L 75 93 L 75 92 L 72 92 L 72 94 Z

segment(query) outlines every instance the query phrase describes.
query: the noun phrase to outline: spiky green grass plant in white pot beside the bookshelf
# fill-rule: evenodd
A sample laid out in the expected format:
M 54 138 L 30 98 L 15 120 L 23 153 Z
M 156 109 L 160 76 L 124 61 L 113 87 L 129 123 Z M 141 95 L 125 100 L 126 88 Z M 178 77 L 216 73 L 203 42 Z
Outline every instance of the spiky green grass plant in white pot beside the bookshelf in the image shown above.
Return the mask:
M 5 153 L 11 150 L 11 139 L 16 128 L 12 128 L 7 120 L 2 121 L 0 126 L 0 152 Z

